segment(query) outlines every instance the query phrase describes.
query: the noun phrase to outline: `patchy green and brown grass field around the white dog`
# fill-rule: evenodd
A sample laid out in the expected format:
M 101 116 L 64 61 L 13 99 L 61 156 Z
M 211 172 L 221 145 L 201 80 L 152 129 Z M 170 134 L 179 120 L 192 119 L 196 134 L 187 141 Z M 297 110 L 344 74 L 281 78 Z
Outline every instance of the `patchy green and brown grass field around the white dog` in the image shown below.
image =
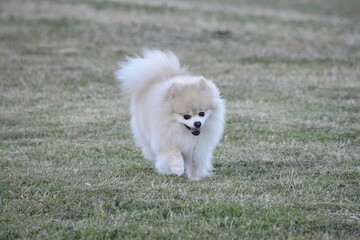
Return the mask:
M 0 0 L 0 239 L 359 239 L 357 0 Z M 114 71 L 170 49 L 227 100 L 214 173 L 158 175 Z

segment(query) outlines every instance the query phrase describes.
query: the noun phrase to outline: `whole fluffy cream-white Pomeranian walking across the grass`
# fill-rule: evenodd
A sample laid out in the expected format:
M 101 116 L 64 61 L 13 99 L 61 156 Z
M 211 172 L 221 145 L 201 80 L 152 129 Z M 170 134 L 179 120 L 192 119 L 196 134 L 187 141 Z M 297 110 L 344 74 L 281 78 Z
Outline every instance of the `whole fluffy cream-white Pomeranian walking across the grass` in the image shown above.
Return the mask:
M 214 83 L 192 76 L 172 52 L 145 50 L 116 72 L 131 103 L 131 128 L 145 158 L 162 174 L 199 180 L 225 124 L 225 103 Z

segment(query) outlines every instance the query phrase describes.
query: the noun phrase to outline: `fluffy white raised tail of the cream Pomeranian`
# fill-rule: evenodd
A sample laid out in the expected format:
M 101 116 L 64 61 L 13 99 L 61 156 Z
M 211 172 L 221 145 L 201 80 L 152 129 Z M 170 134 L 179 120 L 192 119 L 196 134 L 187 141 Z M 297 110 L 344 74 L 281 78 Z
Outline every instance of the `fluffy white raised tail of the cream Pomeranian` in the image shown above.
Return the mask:
M 161 81 L 185 72 L 174 53 L 144 50 L 142 56 L 128 57 L 116 71 L 123 91 L 133 92 L 146 87 L 150 81 Z

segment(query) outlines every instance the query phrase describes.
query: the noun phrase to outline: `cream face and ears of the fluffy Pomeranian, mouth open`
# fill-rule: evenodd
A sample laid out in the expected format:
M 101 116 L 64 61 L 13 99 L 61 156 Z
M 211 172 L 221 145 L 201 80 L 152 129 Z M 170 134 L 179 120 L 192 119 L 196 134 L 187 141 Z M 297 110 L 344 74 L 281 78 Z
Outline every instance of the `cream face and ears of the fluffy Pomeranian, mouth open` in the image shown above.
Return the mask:
M 198 136 L 206 126 L 206 120 L 212 113 L 213 94 L 205 79 L 194 84 L 174 83 L 169 90 L 168 100 L 175 120 Z

